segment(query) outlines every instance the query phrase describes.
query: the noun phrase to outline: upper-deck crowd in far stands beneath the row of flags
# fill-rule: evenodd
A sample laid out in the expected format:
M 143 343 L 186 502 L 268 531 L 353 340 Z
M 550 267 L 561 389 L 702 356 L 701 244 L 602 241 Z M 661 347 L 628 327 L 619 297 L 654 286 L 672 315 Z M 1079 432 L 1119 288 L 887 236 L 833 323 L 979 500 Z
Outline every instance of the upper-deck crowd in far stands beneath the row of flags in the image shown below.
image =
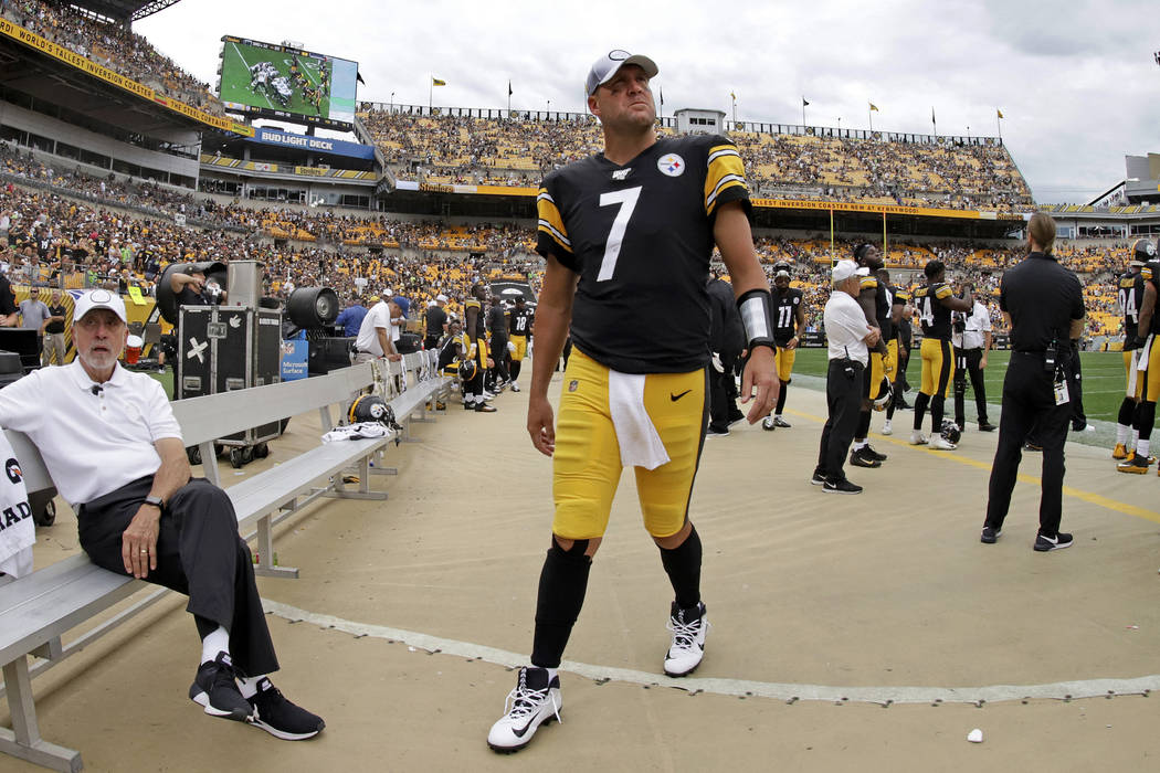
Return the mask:
M 400 178 L 531 187 L 599 148 L 595 119 L 360 114 Z M 667 133 L 662 129 L 660 133 Z M 756 195 L 943 209 L 1028 211 L 1031 192 L 1002 145 L 731 132 Z

